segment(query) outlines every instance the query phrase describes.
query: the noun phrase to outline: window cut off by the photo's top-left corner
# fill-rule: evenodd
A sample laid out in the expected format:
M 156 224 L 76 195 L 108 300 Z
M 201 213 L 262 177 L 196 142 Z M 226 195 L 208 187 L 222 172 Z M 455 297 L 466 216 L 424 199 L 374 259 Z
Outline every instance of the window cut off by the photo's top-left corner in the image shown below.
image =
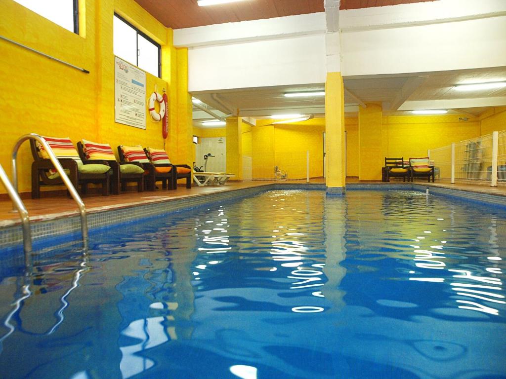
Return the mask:
M 14 0 L 42 17 L 79 34 L 78 0 Z

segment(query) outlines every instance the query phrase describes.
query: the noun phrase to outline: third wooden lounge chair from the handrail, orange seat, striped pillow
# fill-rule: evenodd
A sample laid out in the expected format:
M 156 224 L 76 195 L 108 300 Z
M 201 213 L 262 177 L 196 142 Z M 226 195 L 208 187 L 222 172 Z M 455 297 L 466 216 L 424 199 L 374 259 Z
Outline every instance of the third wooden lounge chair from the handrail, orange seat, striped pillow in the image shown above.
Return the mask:
M 149 162 L 142 146 L 118 146 L 118 155 L 120 162 L 142 164 L 147 171 L 144 180 L 148 191 L 155 191 L 156 182 L 162 182 L 162 188 L 176 189 L 174 186 L 174 170 L 171 164 L 156 164 Z

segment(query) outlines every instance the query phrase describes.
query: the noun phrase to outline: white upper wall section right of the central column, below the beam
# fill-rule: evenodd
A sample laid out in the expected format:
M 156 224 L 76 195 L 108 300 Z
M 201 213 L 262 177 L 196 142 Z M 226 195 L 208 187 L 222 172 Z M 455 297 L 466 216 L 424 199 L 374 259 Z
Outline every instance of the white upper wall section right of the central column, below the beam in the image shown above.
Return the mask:
M 506 16 L 344 32 L 341 40 L 344 76 L 506 65 Z

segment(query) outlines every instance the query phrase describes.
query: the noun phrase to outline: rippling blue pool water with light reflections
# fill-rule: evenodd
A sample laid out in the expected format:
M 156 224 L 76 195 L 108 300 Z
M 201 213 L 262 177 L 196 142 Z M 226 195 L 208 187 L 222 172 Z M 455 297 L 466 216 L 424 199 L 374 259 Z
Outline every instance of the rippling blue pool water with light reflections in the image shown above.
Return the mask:
M 0 265 L 2 378 L 506 378 L 506 212 L 271 191 Z

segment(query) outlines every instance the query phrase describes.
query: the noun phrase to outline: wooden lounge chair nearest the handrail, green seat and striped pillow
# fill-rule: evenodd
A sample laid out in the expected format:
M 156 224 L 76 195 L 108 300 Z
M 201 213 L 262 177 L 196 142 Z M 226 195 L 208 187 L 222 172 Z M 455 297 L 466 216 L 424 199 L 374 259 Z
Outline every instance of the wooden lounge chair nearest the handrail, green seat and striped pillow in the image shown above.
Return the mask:
M 109 178 L 111 168 L 105 161 L 81 160 L 72 142 L 68 138 L 44 137 L 55 153 L 58 161 L 76 189 L 81 185 L 81 194 L 88 192 L 88 184 L 102 184 L 102 195 L 109 195 Z M 40 187 L 44 185 L 64 184 L 60 174 L 42 146 L 31 139 L 30 148 L 33 156 L 31 167 L 32 199 L 40 198 Z M 46 158 L 47 157 L 47 158 Z

